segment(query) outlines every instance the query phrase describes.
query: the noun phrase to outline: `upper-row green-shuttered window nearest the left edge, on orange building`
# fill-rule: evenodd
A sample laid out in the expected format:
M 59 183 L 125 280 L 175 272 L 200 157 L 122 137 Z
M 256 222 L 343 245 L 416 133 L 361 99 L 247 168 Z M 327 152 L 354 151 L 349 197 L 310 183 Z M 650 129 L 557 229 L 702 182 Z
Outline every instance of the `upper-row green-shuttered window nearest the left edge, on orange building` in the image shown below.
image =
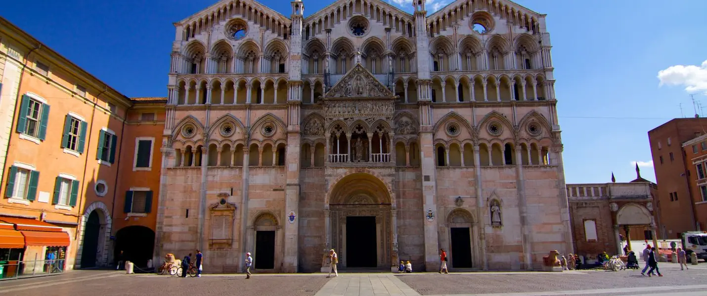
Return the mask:
M 17 132 L 20 133 L 20 138 L 39 144 L 40 141 L 45 140 L 48 122 L 47 101 L 29 92 L 23 95 L 17 121 Z

